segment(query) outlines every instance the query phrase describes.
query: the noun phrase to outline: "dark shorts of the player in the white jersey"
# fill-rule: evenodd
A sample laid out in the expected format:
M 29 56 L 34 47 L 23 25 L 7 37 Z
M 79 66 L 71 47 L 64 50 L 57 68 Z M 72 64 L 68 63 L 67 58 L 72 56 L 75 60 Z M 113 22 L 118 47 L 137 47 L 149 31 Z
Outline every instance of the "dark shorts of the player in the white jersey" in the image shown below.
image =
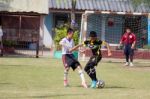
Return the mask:
M 62 61 L 65 68 L 71 67 L 73 70 L 75 70 L 78 66 L 80 66 L 79 61 L 73 54 L 62 55 Z

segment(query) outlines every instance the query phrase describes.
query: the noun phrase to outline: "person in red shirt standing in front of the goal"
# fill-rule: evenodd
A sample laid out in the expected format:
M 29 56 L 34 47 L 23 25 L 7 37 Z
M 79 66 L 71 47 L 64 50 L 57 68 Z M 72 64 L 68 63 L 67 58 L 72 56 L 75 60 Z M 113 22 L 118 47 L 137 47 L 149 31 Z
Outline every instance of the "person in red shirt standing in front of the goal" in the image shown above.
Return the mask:
M 120 45 L 124 45 L 124 54 L 126 57 L 126 63 L 125 66 L 134 66 L 133 65 L 133 56 L 134 56 L 134 49 L 136 44 L 136 36 L 131 31 L 130 28 L 126 28 L 126 32 L 122 36 L 120 40 Z M 130 62 L 129 62 L 130 58 Z

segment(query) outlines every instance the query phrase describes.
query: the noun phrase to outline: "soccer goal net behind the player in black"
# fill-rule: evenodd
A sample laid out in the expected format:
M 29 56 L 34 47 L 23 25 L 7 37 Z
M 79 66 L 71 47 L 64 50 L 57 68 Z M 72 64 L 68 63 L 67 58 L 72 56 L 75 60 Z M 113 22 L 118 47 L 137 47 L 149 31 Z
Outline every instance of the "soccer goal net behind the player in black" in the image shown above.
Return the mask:
M 137 38 L 135 58 L 150 59 L 148 17 L 144 15 L 90 14 L 83 16 L 80 39 L 83 41 L 88 38 L 90 31 L 96 31 L 99 39 L 110 44 L 113 53 L 111 58 L 124 58 L 124 52 L 118 49 L 118 45 L 126 27 L 130 27 Z M 102 47 L 102 54 L 103 57 L 108 57 L 105 47 Z M 87 51 L 85 54 L 79 53 L 79 58 L 84 59 L 90 56 L 91 51 Z

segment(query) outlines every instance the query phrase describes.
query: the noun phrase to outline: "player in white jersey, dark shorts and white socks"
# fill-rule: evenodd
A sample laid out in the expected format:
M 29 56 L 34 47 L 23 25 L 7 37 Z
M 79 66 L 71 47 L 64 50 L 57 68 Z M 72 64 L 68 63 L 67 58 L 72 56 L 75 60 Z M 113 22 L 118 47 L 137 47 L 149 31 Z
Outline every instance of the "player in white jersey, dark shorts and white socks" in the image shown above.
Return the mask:
M 78 69 L 80 78 L 81 78 L 81 85 L 85 88 L 87 88 L 87 84 L 85 82 L 85 78 L 84 78 L 84 74 L 82 71 L 82 67 L 79 63 L 79 61 L 77 61 L 75 59 L 75 56 L 72 54 L 72 51 L 76 50 L 80 45 L 74 46 L 74 41 L 73 41 L 73 34 L 74 31 L 73 29 L 69 28 L 67 30 L 67 36 L 65 38 L 63 38 L 60 41 L 60 45 L 62 45 L 62 60 L 63 60 L 63 64 L 65 67 L 64 70 L 64 86 L 68 86 L 68 72 L 70 67 L 75 70 L 76 68 Z

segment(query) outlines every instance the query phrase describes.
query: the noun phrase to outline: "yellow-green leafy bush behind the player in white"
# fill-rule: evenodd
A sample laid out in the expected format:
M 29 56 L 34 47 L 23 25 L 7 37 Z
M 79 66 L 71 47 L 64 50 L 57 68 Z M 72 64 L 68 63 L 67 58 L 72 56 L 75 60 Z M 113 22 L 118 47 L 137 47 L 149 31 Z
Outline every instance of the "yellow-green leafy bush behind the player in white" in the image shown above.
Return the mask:
M 55 42 L 55 48 L 56 50 L 60 50 L 61 46 L 59 45 L 59 42 L 61 39 L 66 37 L 67 34 L 67 29 L 69 28 L 68 25 L 60 26 L 58 28 L 55 28 L 55 37 L 54 37 L 54 42 Z M 78 44 L 79 42 L 79 31 L 75 30 L 73 40 L 75 42 L 75 45 Z

